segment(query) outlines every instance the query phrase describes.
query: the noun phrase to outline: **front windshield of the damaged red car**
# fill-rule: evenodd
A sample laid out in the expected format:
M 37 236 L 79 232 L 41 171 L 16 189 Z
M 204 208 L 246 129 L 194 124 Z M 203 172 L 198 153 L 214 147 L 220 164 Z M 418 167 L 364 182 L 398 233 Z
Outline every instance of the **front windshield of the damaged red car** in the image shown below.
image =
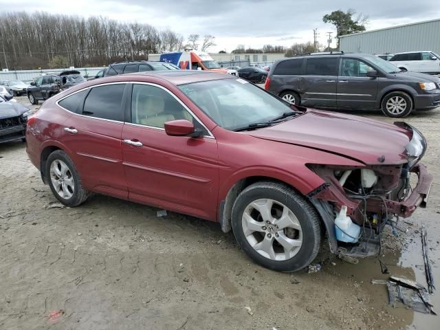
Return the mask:
M 241 78 L 191 83 L 179 89 L 214 122 L 230 131 L 293 113 L 289 104 Z

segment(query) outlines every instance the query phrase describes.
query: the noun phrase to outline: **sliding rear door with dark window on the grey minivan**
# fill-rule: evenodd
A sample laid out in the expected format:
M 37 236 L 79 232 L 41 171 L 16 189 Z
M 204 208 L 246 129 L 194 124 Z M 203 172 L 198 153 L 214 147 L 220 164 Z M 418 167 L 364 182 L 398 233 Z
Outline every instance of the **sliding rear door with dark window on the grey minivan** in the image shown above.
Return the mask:
M 306 58 L 301 83 L 301 105 L 336 108 L 336 86 L 340 56 Z

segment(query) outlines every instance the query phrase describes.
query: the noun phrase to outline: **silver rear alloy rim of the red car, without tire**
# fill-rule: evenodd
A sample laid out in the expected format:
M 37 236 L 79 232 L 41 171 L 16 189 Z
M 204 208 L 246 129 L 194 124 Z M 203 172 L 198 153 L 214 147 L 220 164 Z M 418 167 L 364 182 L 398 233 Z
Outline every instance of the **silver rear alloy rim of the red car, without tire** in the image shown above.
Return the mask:
M 50 164 L 50 180 L 55 192 L 63 199 L 70 199 L 75 192 L 75 181 L 69 166 L 61 159 Z

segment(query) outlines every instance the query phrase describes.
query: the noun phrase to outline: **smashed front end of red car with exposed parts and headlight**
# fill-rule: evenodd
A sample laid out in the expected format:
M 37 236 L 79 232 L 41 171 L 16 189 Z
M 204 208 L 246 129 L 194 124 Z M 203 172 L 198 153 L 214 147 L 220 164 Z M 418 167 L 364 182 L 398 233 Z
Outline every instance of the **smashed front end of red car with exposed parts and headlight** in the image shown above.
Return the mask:
M 325 223 L 333 253 L 373 256 L 380 250 L 380 234 L 386 225 L 393 232 L 404 232 L 399 218 L 426 207 L 432 175 L 419 163 L 426 139 L 404 122 L 395 125 L 411 136 L 405 146 L 406 161 L 401 164 L 386 164 L 381 156 L 376 164 L 364 166 L 308 165 L 325 181 L 308 197 Z

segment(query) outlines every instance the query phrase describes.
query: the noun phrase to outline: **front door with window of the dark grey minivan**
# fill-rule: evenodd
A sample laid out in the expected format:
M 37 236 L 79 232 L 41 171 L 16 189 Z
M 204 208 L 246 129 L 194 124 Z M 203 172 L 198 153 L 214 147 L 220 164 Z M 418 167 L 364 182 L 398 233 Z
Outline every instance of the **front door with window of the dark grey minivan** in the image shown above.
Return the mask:
M 358 58 L 341 58 L 338 76 L 338 109 L 374 109 L 378 79 L 366 76 L 374 70 Z

